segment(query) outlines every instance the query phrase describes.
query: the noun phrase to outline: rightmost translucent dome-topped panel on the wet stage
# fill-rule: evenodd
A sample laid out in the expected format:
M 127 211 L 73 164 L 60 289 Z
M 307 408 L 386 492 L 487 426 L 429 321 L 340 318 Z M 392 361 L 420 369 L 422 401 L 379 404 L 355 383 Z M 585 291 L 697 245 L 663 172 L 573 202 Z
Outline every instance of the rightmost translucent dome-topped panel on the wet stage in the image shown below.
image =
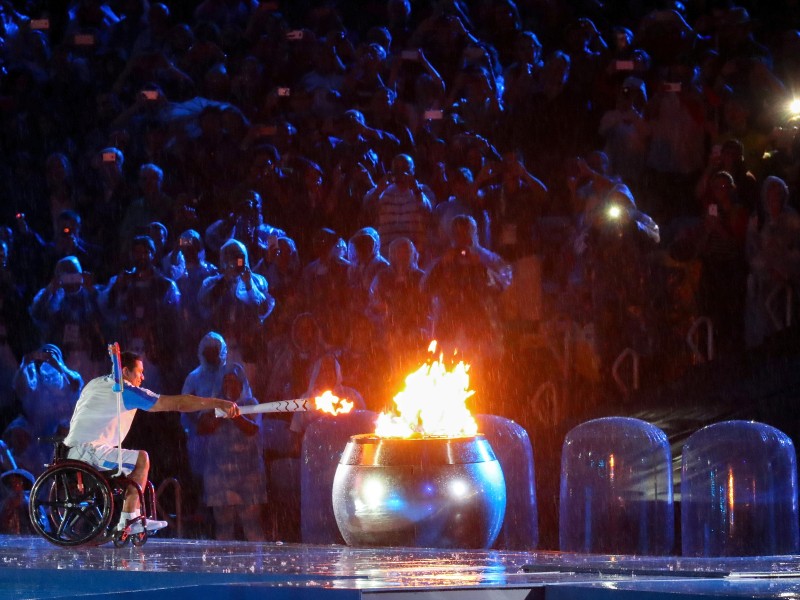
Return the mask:
M 681 458 L 684 556 L 798 552 L 797 462 L 789 437 L 753 421 L 689 436 Z

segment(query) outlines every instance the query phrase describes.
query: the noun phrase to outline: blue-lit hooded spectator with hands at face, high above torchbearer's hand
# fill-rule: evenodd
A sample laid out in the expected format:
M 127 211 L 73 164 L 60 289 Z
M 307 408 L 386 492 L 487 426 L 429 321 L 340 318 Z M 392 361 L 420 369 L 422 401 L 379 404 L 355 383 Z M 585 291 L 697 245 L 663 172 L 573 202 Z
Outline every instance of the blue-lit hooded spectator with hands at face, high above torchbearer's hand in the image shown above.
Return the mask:
M 244 244 L 228 240 L 220 250 L 220 273 L 208 277 L 197 296 L 208 325 L 225 337 L 231 358 L 244 363 L 251 376 L 262 325 L 275 307 L 268 287 L 250 270 Z

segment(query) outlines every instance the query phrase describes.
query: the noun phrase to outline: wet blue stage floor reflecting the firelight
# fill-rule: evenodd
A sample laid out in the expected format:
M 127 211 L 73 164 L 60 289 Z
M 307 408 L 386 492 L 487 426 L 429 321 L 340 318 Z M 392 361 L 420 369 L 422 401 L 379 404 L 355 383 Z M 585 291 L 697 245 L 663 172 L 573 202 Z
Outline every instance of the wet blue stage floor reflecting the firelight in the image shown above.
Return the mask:
M 151 539 L 58 548 L 0 536 L 0 598 L 800 599 L 800 556 L 636 558 Z M 379 596 L 379 597 L 378 597 Z

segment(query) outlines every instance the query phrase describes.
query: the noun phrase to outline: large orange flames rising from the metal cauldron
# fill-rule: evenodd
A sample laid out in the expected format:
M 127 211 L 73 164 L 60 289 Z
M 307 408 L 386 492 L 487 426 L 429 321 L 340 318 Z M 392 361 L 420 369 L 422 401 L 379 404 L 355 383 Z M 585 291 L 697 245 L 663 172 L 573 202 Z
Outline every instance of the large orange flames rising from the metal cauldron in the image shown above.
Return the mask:
M 436 352 L 431 342 L 429 352 Z M 380 437 L 461 437 L 478 432 L 466 406 L 475 392 L 469 389 L 469 365 L 459 362 L 448 370 L 442 361 L 430 361 L 406 377 L 405 389 L 394 397 L 397 414 L 381 413 L 375 427 Z

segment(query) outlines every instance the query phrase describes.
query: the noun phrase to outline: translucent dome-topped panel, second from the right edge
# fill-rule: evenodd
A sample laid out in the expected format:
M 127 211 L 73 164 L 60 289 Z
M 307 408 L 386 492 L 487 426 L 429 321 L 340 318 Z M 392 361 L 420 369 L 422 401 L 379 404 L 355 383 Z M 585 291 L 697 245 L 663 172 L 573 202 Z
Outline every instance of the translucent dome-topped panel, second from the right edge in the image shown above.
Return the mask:
M 561 452 L 561 550 L 671 553 L 671 460 L 666 434 L 639 419 L 607 417 L 572 429 Z

